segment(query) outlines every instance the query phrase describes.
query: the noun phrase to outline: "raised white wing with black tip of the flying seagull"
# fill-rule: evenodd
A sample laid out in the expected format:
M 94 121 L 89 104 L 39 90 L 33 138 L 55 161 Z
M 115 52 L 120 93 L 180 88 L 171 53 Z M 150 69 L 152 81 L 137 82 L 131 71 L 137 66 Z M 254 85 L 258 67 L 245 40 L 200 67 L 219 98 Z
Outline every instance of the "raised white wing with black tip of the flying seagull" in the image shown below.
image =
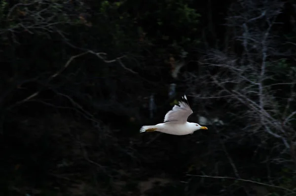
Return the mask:
M 184 96 L 184 99 L 187 101 L 186 96 Z M 179 105 L 175 105 L 172 110 L 167 112 L 167 114 L 164 117 L 164 122 L 166 123 L 185 123 L 187 121 L 187 118 L 193 113 L 188 101 L 187 103 L 183 101 L 179 101 Z

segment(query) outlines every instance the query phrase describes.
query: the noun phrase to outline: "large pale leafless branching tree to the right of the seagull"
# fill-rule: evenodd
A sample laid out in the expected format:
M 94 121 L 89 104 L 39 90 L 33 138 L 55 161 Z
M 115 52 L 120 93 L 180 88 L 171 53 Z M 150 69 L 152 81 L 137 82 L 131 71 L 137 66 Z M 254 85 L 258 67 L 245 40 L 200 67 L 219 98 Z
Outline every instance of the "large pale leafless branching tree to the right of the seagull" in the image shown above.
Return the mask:
M 278 142 L 274 145 L 287 154 L 296 133 L 291 126 L 296 115 L 295 108 L 291 108 L 295 103 L 296 80 L 295 71 L 285 61 L 282 63 L 283 56 L 290 58 L 290 49 L 280 47 L 283 38 L 274 28 L 279 25 L 276 20 L 283 7 L 280 0 L 234 2 L 226 25 L 232 27 L 232 39 L 240 43 L 242 51 L 227 54 L 222 52 L 227 52 L 227 48 L 208 50 L 199 61 L 201 73 L 190 74 L 195 85 L 189 88 L 196 99 L 209 104 L 212 101 L 208 99 L 223 100 L 232 113 L 244 108 L 234 115 L 242 125 L 237 137 L 257 134 L 262 141 L 275 138 Z M 296 44 L 290 45 L 295 49 Z M 286 66 L 282 68 L 283 64 Z M 280 81 L 279 77 L 285 79 Z M 285 92 L 279 96 L 278 88 L 291 89 L 290 95 Z M 196 89 L 204 90 L 195 93 Z

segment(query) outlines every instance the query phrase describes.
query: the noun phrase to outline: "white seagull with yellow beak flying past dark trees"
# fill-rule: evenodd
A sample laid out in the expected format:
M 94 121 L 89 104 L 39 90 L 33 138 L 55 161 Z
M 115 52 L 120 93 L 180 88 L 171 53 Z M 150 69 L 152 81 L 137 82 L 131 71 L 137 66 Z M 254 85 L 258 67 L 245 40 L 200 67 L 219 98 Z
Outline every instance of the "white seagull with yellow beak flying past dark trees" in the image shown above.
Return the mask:
M 142 126 L 140 133 L 143 132 L 153 132 L 159 131 L 162 133 L 172 134 L 172 135 L 187 135 L 193 134 L 194 131 L 199 129 L 208 129 L 205 126 L 200 126 L 194 122 L 187 122 L 187 118 L 193 113 L 189 104 L 186 95 L 182 97 L 186 100 L 179 101 L 179 105 L 175 105 L 172 110 L 167 112 L 164 117 L 163 123 L 156 125 Z

